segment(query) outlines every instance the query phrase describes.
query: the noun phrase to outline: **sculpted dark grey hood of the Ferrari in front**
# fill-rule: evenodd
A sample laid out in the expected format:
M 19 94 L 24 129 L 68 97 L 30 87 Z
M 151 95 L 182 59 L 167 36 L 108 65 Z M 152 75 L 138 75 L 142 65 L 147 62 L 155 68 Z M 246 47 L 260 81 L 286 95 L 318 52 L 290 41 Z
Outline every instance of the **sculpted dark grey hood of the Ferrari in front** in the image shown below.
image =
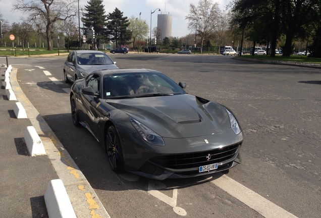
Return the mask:
M 108 103 L 162 137 L 211 135 L 231 127 L 225 107 L 189 94 L 120 99 Z

